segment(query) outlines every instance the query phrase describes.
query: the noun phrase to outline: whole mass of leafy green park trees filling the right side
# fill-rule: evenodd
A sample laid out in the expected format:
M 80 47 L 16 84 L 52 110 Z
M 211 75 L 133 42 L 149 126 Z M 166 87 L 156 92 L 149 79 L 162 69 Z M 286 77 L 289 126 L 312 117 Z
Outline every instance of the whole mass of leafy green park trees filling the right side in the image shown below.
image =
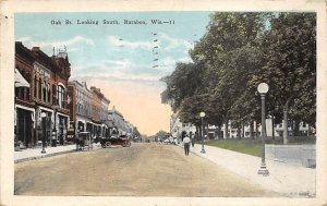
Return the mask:
M 229 120 L 237 126 L 258 121 L 256 87 L 266 82 L 267 114 L 276 122 L 283 119 L 284 143 L 290 111 L 295 122 L 314 125 L 314 13 L 216 12 L 190 56 L 194 63 L 178 63 L 162 78 L 167 83 L 162 102 L 170 102 L 183 121 L 197 124 L 199 111 L 215 125 L 225 122 L 227 126 Z

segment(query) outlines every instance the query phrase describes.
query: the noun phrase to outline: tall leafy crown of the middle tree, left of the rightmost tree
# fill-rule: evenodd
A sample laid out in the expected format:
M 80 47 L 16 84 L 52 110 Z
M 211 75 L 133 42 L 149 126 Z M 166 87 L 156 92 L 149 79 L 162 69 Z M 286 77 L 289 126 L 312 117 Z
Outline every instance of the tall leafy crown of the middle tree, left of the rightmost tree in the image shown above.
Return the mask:
M 191 52 L 191 57 L 206 60 L 205 80 L 210 95 L 208 118 L 216 120 L 218 125 L 223 121 L 227 126 L 229 119 L 237 120 L 240 125 L 241 121 L 253 118 L 253 108 L 244 110 L 241 106 L 243 100 L 253 106 L 254 93 L 244 96 L 249 95 L 245 85 L 262 66 L 259 46 L 267 16 L 264 13 L 217 12 L 211 16 L 208 33 Z

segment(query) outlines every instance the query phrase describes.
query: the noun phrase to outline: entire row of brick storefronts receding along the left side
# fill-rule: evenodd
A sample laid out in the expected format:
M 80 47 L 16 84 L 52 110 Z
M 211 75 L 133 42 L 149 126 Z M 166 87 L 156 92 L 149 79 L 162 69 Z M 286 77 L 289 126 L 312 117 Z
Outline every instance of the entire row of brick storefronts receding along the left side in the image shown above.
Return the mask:
M 112 118 L 110 100 L 99 88 L 88 89 L 85 82 L 69 81 L 71 64 L 66 50 L 51 57 L 38 47 L 15 43 L 15 145 L 65 145 L 80 132 L 95 140 L 113 133 L 129 133 L 133 125 Z M 119 112 L 118 112 L 119 113 Z M 120 128 L 117 126 L 120 124 Z M 129 125 L 129 126 L 125 126 Z

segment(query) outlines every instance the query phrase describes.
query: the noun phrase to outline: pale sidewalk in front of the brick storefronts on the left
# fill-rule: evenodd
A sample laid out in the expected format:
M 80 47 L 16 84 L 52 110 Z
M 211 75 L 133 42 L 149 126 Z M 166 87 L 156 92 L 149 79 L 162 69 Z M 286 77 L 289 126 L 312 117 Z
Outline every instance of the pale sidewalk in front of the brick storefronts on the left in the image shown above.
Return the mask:
M 93 149 L 101 148 L 100 144 L 94 144 Z M 44 157 L 51 157 L 55 155 L 65 154 L 65 153 L 74 153 L 76 152 L 76 145 L 64 145 L 64 146 L 57 146 L 57 147 L 46 147 L 46 153 L 41 154 L 43 148 L 27 148 L 22 149 L 20 152 L 14 152 L 14 162 L 22 162 L 28 161 L 33 159 L 44 158 Z M 87 147 L 86 147 L 87 149 Z

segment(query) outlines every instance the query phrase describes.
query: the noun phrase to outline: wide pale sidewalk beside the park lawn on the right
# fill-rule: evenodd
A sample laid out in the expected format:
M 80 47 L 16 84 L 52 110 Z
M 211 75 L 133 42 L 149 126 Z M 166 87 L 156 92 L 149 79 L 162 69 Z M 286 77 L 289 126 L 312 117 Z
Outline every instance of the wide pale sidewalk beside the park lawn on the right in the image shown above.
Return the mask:
M 181 145 L 180 145 L 181 146 Z M 201 153 L 202 145 L 191 146 L 190 152 L 206 158 L 216 165 L 230 170 L 253 183 L 292 197 L 313 197 L 316 194 L 316 170 L 292 166 L 274 160 L 266 160 L 268 177 L 257 174 L 262 158 L 235 153 L 218 147 L 204 146 L 205 154 Z

